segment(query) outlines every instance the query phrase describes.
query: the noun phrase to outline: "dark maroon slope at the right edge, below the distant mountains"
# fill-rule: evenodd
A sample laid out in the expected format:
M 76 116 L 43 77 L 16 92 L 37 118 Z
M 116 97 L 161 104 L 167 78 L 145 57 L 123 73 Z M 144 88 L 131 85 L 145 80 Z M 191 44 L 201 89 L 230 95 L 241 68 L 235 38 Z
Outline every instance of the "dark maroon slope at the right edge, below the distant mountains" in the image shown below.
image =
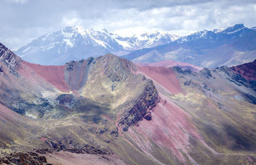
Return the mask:
M 244 63 L 231 67 L 237 74 L 240 74 L 247 80 L 256 80 L 256 59 L 251 63 Z

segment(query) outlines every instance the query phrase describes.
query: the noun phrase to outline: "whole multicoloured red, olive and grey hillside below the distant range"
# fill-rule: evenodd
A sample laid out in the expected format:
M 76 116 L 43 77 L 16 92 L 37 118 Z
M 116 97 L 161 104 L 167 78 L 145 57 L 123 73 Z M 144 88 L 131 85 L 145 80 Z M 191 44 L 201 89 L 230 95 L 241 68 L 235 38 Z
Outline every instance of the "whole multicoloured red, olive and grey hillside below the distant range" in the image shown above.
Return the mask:
M 2 44 L 0 65 L 0 161 L 34 150 L 67 164 L 255 163 L 255 81 L 232 68 L 139 66 L 111 54 L 43 66 Z

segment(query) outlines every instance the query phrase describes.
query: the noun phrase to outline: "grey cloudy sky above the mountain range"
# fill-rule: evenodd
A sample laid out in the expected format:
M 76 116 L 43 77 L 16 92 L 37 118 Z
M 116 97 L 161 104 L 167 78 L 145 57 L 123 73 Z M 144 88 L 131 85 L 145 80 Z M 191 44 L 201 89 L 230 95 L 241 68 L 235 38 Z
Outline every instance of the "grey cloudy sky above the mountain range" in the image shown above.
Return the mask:
M 65 26 L 188 35 L 234 24 L 256 26 L 255 0 L 0 0 L 0 42 L 17 49 Z

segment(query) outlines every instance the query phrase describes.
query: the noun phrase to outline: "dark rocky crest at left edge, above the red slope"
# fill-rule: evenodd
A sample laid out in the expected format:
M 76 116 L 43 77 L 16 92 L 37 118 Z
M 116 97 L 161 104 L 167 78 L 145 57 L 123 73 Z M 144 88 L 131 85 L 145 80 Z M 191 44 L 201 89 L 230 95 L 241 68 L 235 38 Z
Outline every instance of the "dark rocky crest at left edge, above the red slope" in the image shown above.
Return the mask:
M 0 43 L 0 61 L 4 61 L 9 68 L 17 70 L 20 68 L 22 59 Z

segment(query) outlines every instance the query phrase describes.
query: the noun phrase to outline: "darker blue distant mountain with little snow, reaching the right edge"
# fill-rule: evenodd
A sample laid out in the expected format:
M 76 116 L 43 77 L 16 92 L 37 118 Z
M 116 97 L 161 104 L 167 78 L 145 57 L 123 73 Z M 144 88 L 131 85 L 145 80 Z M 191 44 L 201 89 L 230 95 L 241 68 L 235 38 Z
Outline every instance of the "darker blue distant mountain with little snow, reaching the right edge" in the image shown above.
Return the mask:
M 240 65 L 256 58 L 256 31 L 243 24 L 227 29 L 198 31 L 173 42 L 133 51 L 122 57 L 138 63 L 171 59 L 211 68 Z

